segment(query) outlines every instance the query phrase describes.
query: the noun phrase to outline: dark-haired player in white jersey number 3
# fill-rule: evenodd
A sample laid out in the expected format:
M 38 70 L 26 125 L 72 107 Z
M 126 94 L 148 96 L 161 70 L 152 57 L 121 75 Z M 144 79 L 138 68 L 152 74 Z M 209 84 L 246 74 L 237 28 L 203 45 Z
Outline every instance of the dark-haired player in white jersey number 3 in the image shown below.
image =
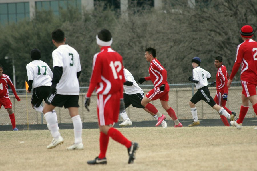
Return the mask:
M 83 150 L 82 144 L 82 122 L 79 116 L 79 75 L 81 65 L 78 52 L 65 44 L 66 38 L 61 29 L 52 32 L 52 42 L 57 47 L 52 52 L 53 57 L 53 79 L 51 93 L 47 97 L 43 109 L 45 120 L 49 124 L 49 129 L 53 137 L 52 143 L 47 149 L 55 148 L 58 144 L 63 143 L 63 137 L 55 124 L 55 117 L 52 110 L 58 106 L 69 109 L 69 114 L 74 127 L 74 144 L 67 150 Z

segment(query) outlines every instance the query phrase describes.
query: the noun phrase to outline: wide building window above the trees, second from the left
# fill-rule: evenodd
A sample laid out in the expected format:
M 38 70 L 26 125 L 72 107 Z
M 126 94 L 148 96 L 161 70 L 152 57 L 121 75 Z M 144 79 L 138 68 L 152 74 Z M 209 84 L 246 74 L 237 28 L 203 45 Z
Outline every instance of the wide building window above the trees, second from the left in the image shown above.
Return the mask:
M 81 11 L 81 0 L 37 1 L 36 10 L 51 10 L 55 15 L 60 14 L 61 9 L 75 7 Z

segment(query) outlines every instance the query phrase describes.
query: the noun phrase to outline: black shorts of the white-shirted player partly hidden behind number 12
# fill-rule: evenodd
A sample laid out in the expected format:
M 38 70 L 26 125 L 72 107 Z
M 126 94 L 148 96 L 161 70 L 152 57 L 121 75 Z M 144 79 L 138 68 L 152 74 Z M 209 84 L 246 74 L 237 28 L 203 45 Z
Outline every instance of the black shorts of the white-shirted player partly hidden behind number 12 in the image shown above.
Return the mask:
M 142 108 L 145 107 L 141 105 L 141 101 L 144 98 L 144 93 L 137 93 L 137 94 L 123 94 L 125 108 L 132 105 L 133 107 Z

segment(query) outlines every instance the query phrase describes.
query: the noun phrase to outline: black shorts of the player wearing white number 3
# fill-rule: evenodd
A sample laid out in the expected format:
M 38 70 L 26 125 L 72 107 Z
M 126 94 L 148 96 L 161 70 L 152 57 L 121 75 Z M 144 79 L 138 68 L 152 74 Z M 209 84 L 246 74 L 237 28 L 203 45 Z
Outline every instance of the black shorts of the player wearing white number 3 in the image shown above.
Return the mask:
M 79 107 L 79 96 L 50 93 L 45 103 L 64 108 Z

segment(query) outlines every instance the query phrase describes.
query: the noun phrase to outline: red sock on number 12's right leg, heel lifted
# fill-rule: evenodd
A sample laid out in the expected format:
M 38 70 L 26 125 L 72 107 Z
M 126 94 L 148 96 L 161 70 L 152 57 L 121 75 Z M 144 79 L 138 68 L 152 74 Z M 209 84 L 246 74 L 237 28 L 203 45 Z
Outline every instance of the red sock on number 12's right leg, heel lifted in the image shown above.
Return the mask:
M 127 148 L 131 147 L 131 144 L 132 144 L 131 141 L 129 141 L 126 137 L 124 137 L 122 133 L 117 129 L 111 127 L 107 134 L 113 140 L 125 145 Z

